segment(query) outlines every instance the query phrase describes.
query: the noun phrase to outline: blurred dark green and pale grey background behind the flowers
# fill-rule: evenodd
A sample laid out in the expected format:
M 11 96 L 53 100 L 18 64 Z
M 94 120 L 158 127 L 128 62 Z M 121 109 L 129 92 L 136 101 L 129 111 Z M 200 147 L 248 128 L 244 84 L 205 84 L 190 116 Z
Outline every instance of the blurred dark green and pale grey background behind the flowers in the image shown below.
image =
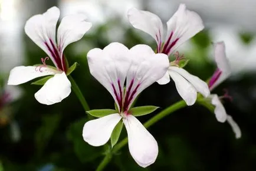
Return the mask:
M 11 68 L 41 63 L 46 54 L 24 32 L 25 21 L 58 6 L 61 18 L 77 12 L 88 16 L 93 27 L 83 40 L 65 49 L 68 62 L 80 65 L 72 73 L 91 109 L 113 108 L 106 89 L 89 73 L 86 54 L 119 41 L 127 47 L 155 41 L 134 29 L 127 20 L 131 7 L 151 11 L 163 23 L 180 3 L 198 12 L 204 31 L 178 50 L 190 58 L 186 70 L 207 80 L 215 71 L 212 42 L 224 41 L 232 76 L 214 93 L 227 88 L 232 101 L 225 101 L 227 113 L 242 131 L 235 139 L 227 123 L 218 123 L 214 114 L 198 105 L 185 107 L 149 128 L 159 144 L 156 162 L 142 169 L 125 146 L 113 157 L 106 170 L 256 170 L 256 1 L 254 0 L 0 0 L 0 170 L 94 170 L 108 146 L 92 147 L 81 131 L 86 113 L 74 93 L 63 102 L 44 106 L 34 98 L 38 85 L 6 86 Z M 1 104 L 8 97 L 8 103 Z M 139 118 L 145 122 L 180 97 L 171 81 L 147 88 L 136 106 L 155 105 L 155 113 Z M 126 137 L 123 129 L 120 139 Z

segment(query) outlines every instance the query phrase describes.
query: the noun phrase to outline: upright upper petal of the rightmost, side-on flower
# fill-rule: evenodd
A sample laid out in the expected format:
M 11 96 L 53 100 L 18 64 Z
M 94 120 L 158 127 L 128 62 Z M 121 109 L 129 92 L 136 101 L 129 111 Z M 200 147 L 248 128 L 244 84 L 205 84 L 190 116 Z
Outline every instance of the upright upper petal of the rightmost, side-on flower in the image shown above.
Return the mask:
M 211 85 L 211 90 L 213 90 L 217 85 L 221 84 L 229 77 L 229 75 L 231 75 L 231 66 L 229 65 L 228 58 L 225 54 L 224 42 L 217 42 L 214 44 L 214 58 L 218 69 L 221 71 L 221 75 L 219 76 L 218 80 Z

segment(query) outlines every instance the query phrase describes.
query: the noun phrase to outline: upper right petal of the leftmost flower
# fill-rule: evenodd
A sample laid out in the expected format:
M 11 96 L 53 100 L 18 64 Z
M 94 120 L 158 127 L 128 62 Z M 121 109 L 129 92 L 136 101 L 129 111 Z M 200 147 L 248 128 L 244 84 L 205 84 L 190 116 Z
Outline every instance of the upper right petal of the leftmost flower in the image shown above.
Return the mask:
M 67 45 L 80 40 L 91 28 L 91 22 L 86 21 L 83 14 L 65 16 L 58 27 L 57 40 L 61 52 Z

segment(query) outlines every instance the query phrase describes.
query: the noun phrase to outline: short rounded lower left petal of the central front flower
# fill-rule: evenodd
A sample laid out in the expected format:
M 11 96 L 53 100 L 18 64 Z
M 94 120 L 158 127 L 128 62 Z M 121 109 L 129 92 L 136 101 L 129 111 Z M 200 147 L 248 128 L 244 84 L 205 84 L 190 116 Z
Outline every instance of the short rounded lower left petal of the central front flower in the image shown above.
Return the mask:
M 83 128 L 84 141 L 91 146 L 102 146 L 110 139 L 114 127 L 122 119 L 120 114 L 114 113 L 99 119 L 87 121 Z

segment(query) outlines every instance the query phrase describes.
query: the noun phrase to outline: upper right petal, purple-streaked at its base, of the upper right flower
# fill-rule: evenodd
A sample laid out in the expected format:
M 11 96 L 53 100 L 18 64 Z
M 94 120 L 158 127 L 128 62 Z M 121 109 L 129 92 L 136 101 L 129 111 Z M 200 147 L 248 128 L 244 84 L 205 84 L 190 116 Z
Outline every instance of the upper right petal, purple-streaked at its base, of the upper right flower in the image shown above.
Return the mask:
M 168 32 L 165 43 L 168 44 L 171 54 L 179 45 L 189 40 L 199 31 L 204 29 L 202 19 L 196 12 L 186 9 L 185 4 L 180 4 L 178 10 L 167 22 Z M 173 33 L 172 33 L 173 32 Z M 169 39 L 169 41 L 168 41 Z M 178 39 L 178 41 L 176 41 Z M 175 42 L 176 43 L 173 43 Z M 166 44 L 166 45 L 167 45 Z

